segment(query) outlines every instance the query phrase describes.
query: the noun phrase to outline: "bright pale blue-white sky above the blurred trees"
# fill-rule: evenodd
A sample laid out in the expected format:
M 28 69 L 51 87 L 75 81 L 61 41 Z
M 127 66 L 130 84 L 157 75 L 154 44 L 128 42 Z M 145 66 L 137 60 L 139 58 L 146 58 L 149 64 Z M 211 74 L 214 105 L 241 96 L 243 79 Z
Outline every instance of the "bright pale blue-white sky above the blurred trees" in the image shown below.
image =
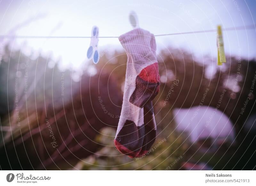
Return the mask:
M 137 13 L 139 26 L 155 35 L 216 29 L 222 25 L 226 55 L 256 57 L 256 29 L 225 32 L 225 27 L 254 25 L 256 1 L 46 1 L 0 0 L 0 35 L 91 36 L 92 26 L 99 36 L 119 36 L 132 29 L 129 13 Z M 256 28 L 256 27 L 255 27 Z M 15 32 L 12 32 L 15 30 Z M 90 39 L 15 39 L 12 50 L 34 52 L 61 61 L 61 68 L 79 69 L 87 62 Z M 201 33 L 156 37 L 157 51 L 172 46 L 193 53 L 204 62 L 204 56 L 217 57 L 216 34 Z M 123 50 L 117 38 L 100 38 L 99 50 Z

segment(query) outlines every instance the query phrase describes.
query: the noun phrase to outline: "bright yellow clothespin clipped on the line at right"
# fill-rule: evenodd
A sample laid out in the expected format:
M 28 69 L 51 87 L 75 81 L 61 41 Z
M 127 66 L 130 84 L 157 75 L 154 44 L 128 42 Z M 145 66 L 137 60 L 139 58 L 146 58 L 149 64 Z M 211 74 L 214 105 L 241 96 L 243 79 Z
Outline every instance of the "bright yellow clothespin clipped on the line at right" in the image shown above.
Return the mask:
M 221 26 L 217 27 L 217 47 L 218 47 L 218 60 L 217 65 L 222 65 L 222 63 L 226 63 L 226 57 L 224 52 L 224 43 L 222 38 Z

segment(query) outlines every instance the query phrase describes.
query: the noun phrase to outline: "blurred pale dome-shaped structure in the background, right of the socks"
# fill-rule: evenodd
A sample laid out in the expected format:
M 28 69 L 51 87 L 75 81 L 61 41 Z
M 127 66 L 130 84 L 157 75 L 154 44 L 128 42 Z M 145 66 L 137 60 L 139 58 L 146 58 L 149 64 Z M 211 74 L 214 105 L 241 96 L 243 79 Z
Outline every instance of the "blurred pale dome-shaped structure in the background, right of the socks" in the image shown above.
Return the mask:
M 207 137 L 213 140 L 227 140 L 233 142 L 235 139 L 235 128 L 228 116 L 213 107 L 201 106 L 173 109 L 173 117 L 177 129 L 180 132 L 187 132 L 191 142 L 196 142 Z

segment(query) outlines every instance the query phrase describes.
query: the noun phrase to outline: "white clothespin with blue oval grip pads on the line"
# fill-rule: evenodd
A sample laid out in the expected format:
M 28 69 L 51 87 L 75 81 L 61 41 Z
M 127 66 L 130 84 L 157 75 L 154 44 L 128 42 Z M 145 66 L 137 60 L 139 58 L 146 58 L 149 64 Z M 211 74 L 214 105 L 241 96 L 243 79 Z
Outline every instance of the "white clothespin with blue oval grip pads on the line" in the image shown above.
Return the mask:
M 99 52 L 98 52 L 98 39 L 99 36 L 99 28 L 96 26 L 92 27 L 92 35 L 91 35 L 91 43 L 90 47 L 87 50 L 87 58 L 91 59 L 93 57 L 93 63 L 99 62 Z

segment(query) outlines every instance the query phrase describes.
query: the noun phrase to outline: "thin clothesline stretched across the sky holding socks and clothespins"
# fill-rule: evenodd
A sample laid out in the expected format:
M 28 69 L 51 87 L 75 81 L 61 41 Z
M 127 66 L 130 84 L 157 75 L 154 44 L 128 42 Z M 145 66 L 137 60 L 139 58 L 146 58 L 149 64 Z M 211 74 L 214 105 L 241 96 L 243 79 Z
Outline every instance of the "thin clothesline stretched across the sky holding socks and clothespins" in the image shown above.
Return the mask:
M 223 28 L 223 31 L 232 31 L 232 30 L 249 30 L 249 29 L 256 29 L 255 25 L 248 25 L 248 26 L 240 26 L 240 27 L 228 27 Z M 211 30 L 200 30 L 200 31 L 190 31 L 190 32 L 177 32 L 177 33 L 170 33 L 170 34 L 160 34 L 155 35 L 157 36 L 165 36 L 165 35 L 185 35 L 185 34 L 198 34 L 198 33 L 209 33 L 209 32 L 216 32 L 216 29 Z M 118 38 L 119 36 L 99 36 L 98 38 Z M 91 38 L 91 36 L 31 36 L 31 35 L 0 35 L 0 38 L 14 38 L 14 39 L 44 39 L 44 38 Z

